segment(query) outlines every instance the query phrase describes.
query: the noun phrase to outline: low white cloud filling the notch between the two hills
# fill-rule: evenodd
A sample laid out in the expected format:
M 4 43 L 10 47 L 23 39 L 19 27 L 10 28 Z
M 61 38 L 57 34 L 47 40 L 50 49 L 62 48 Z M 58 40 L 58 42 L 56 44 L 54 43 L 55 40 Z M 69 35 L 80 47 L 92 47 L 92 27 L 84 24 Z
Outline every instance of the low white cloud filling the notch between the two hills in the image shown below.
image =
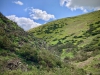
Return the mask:
M 15 15 L 6 16 L 8 19 L 16 22 L 24 30 L 29 30 L 31 28 L 37 27 L 41 24 L 34 22 L 30 18 L 16 17 Z

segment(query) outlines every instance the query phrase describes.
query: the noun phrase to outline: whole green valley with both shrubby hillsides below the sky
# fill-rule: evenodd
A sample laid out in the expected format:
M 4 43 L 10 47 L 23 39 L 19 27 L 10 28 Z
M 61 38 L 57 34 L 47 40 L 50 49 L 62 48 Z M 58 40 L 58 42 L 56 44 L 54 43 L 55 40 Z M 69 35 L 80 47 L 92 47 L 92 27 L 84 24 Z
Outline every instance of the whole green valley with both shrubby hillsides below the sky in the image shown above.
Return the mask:
M 28 31 L 0 13 L 0 75 L 100 75 L 100 10 Z

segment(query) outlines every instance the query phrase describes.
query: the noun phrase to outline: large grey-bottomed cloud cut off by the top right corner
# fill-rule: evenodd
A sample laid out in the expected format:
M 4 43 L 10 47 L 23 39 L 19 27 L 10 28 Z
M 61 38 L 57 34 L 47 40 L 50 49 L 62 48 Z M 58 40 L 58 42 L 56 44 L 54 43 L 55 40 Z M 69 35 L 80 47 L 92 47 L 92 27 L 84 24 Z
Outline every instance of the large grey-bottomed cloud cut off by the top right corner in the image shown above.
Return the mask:
M 87 12 L 88 10 L 99 10 L 100 0 L 60 0 L 60 5 L 65 5 L 71 10 L 81 9 Z

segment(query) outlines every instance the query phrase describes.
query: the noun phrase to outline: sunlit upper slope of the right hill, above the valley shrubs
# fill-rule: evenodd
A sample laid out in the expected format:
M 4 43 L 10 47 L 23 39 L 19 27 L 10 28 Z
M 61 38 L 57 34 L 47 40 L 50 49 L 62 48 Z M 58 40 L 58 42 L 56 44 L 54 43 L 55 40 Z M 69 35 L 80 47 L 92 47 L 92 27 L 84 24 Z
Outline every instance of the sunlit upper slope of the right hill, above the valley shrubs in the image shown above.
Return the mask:
M 79 47 L 91 42 L 100 32 L 100 11 L 63 18 L 29 30 L 35 37 L 44 39 L 50 45 L 65 44 L 68 41 Z M 97 34 L 96 34 L 97 33 Z M 89 36 L 91 35 L 91 36 Z

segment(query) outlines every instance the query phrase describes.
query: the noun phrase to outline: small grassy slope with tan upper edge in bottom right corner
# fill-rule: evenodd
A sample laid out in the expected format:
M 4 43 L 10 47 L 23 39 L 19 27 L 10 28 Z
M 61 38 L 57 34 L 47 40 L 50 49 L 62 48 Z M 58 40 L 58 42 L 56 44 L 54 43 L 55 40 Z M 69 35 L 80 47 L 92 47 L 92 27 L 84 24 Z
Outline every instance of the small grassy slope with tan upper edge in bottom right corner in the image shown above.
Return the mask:
M 75 63 L 76 67 L 83 68 L 87 73 L 92 73 L 93 75 L 100 74 L 100 54 L 90 57 L 83 62 Z

